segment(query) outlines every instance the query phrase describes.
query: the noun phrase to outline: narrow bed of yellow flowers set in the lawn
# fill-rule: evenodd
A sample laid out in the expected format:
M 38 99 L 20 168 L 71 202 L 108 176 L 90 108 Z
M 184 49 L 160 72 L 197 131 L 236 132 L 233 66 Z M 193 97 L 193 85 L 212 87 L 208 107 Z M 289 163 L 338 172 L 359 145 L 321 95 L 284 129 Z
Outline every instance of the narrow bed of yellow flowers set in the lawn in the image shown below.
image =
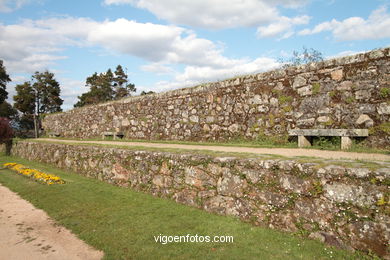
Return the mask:
M 52 184 L 64 184 L 65 181 L 62 180 L 60 177 L 53 175 L 53 174 L 47 174 L 44 172 L 40 172 L 35 169 L 30 169 L 22 164 L 17 163 L 5 163 L 3 164 L 4 167 L 11 169 L 13 171 L 16 171 L 20 175 L 24 175 L 27 177 L 30 177 L 31 179 L 38 181 L 40 183 L 45 183 L 48 185 Z

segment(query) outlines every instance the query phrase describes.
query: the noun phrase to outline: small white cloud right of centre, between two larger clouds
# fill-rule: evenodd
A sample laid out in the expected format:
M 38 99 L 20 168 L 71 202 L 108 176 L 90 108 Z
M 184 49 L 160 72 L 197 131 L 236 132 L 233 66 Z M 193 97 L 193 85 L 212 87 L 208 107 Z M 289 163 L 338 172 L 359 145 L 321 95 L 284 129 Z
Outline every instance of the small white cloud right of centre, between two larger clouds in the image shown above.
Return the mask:
M 307 15 L 294 18 L 283 16 L 275 23 L 257 28 L 257 35 L 261 38 L 270 38 L 280 35 L 281 38 L 288 38 L 294 34 L 293 27 L 295 25 L 307 24 L 309 20 L 310 17 Z

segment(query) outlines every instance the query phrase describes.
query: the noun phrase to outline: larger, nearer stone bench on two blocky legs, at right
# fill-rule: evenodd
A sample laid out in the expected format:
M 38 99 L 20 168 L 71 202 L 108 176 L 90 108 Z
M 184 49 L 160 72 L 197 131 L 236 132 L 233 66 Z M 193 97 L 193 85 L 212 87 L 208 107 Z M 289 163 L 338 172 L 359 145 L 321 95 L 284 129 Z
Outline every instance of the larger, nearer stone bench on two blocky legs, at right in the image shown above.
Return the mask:
M 298 136 L 298 147 L 311 146 L 313 136 L 340 136 L 341 149 L 349 149 L 352 145 L 352 137 L 367 137 L 368 129 L 291 129 L 290 136 Z

